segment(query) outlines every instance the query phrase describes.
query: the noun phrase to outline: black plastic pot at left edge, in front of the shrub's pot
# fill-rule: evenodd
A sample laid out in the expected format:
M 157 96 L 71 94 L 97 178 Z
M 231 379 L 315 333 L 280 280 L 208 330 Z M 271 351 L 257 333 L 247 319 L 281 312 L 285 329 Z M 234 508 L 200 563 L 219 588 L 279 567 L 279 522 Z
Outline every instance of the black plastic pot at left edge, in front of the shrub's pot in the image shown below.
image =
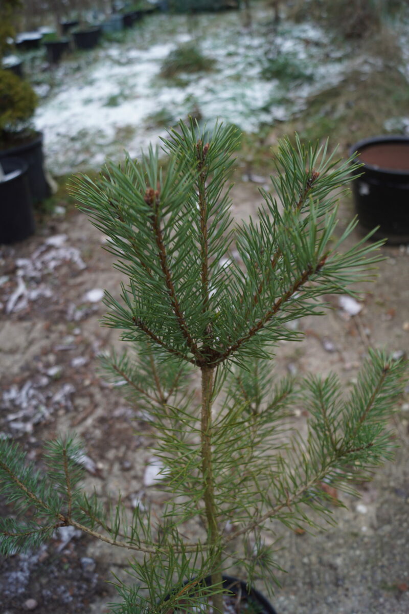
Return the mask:
M 34 233 L 34 216 L 25 161 L 4 158 L 1 166 L 6 176 L 13 174 L 10 179 L 0 181 L 0 244 L 9 244 Z

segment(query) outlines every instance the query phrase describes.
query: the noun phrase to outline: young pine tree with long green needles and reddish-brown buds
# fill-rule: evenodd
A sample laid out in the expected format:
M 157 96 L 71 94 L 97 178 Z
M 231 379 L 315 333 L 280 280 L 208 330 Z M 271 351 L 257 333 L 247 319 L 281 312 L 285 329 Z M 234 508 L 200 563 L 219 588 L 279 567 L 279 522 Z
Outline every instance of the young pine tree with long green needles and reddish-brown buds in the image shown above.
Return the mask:
M 326 147 L 285 140 L 272 177 L 277 197 L 262 191 L 258 219 L 237 225 L 226 189 L 237 139 L 218 125 L 207 142 L 181 123 L 164 142 L 166 170 L 150 150 L 76 188 L 128 278 L 120 299 L 105 294 L 105 324 L 131 351 L 104 362 L 155 427 L 162 518 L 83 494 L 72 438 L 48 444 L 47 475 L 0 441 L 2 492 L 21 518 L 1 521 L 2 552 L 35 548 L 61 525 L 126 548 L 136 583 L 118 585 L 123 602 L 114 609 L 123 614 L 202 611 L 205 594 L 223 611 L 227 560 L 250 582 L 274 580 L 278 565 L 263 541 L 272 521 L 296 529 L 313 524 L 308 510 L 327 518 L 323 481 L 353 491 L 356 478 L 392 456 L 387 424 L 402 363 L 369 352 L 345 395 L 335 375 L 275 381 L 270 362 L 280 341 L 300 340 L 289 322 L 322 314 L 327 294 L 352 292 L 380 260 L 379 244 L 365 239 L 342 250 L 356 221 L 335 238 L 337 199 L 356 167 L 335 163 Z M 288 408 L 301 402 L 308 437 L 289 437 Z M 188 521 L 196 540 L 184 535 Z

